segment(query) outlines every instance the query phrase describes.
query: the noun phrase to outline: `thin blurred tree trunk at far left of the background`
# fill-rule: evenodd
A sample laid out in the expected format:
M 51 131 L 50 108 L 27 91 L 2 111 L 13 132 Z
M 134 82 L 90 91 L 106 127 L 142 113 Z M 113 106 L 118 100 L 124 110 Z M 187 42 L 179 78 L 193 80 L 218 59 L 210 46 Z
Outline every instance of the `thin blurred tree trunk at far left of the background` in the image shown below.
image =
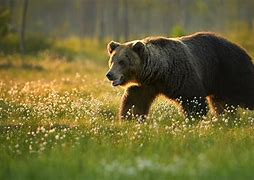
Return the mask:
M 28 0 L 24 0 L 23 13 L 21 19 L 21 29 L 20 29 L 20 52 L 25 53 L 25 30 L 26 30 L 26 14 L 27 14 Z

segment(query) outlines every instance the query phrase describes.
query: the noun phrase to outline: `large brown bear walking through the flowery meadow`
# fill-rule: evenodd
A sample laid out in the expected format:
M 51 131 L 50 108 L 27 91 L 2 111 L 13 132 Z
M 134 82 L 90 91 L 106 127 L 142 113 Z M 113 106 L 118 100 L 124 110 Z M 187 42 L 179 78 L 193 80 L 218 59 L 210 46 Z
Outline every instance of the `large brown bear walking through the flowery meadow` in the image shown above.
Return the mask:
M 238 45 L 210 32 L 148 37 L 108 46 L 113 86 L 124 86 L 120 118 L 146 117 L 159 94 L 179 102 L 187 117 L 226 106 L 254 109 L 254 65 Z

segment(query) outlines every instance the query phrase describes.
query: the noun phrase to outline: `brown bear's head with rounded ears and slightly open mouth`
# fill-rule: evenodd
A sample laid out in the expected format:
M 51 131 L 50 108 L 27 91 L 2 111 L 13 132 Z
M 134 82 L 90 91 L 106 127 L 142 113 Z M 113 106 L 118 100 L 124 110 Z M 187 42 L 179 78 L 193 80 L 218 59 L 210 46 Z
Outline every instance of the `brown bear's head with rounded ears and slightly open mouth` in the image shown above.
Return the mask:
M 107 78 L 113 86 L 138 84 L 138 74 L 142 65 L 142 54 L 145 44 L 141 41 L 131 41 L 124 44 L 111 41 L 108 46 L 109 71 Z

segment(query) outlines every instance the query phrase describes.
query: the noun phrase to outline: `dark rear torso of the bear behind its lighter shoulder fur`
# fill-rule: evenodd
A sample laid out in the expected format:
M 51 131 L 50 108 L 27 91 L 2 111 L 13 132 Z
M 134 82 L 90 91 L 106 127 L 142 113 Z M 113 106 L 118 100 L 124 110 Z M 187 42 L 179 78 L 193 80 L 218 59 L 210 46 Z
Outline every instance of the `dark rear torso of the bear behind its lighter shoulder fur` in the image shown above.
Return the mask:
M 254 65 L 242 47 L 213 33 L 197 33 L 180 39 L 201 62 L 205 79 L 214 77 L 213 91 L 229 99 L 237 99 L 239 94 L 241 98 L 245 95 L 245 99 L 254 98 Z M 207 81 L 204 84 L 209 85 Z

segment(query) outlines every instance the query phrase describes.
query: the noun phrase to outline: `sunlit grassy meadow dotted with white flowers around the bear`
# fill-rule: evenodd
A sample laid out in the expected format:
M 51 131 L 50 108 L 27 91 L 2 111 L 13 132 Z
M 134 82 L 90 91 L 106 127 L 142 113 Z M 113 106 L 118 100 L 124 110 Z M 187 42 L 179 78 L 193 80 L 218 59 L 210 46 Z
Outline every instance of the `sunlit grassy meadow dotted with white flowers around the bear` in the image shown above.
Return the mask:
M 254 178 L 254 112 L 190 124 L 159 97 L 119 122 L 107 68 L 105 44 L 77 38 L 0 55 L 0 179 Z

